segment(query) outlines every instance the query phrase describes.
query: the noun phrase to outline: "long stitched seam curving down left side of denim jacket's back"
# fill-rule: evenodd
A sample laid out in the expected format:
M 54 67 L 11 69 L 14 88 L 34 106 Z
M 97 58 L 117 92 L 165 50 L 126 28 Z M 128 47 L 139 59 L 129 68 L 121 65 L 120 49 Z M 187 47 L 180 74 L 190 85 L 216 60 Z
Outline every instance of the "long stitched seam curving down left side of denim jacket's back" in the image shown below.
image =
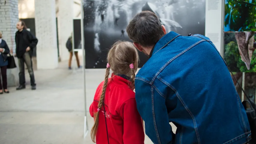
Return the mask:
M 186 111 L 189 113 L 189 115 L 191 116 L 191 119 L 193 120 L 193 124 L 194 124 L 194 129 L 196 132 L 196 136 L 197 136 L 197 141 L 198 144 L 200 144 L 200 136 L 199 136 L 199 132 L 198 132 L 198 128 L 197 128 L 197 123 L 195 120 L 195 117 L 193 115 L 193 113 L 189 110 L 189 108 L 187 107 L 187 105 L 185 104 L 185 102 L 183 101 L 183 99 L 180 97 L 178 91 L 168 82 L 166 82 L 164 79 L 161 79 L 161 77 L 157 77 L 161 82 L 163 82 L 165 85 L 167 85 L 168 87 L 170 87 L 176 94 L 177 98 L 179 99 L 179 101 L 182 103 L 182 105 L 184 106 L 184 108 L 186 109 Z

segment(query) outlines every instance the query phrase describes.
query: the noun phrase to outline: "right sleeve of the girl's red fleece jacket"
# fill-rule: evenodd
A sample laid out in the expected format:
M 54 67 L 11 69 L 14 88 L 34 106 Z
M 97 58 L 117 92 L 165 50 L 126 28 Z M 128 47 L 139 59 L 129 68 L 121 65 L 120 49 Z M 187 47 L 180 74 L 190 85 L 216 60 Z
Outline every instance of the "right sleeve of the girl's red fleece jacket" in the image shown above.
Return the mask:
M 124 144 L 144 144 L 143 121 L 137 110 L 135 98 L 131 98 L 122 104 L 120 116 L 124 121 Z

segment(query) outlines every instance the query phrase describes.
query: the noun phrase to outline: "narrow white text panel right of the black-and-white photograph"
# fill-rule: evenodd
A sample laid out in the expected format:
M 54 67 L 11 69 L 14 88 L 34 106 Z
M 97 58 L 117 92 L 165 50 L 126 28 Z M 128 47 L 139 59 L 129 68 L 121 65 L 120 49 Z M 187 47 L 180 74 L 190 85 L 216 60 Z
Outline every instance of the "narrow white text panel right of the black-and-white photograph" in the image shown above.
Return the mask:
M 210 38 L 218 51 L 221 52 L 223 37 L 223 2 L 221 0 L 206 0 L 205 36 Z

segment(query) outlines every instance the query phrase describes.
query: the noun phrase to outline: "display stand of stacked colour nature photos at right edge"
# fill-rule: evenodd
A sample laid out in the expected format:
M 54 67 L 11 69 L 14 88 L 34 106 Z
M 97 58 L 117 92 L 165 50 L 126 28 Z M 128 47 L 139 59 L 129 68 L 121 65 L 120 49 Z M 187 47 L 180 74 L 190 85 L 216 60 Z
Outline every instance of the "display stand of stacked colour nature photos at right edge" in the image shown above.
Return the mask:
M 224 59 L 249 98 L 256 95 L 256 1 L 225 0 Z M 246 99 L 235 79 L 241 100 Z

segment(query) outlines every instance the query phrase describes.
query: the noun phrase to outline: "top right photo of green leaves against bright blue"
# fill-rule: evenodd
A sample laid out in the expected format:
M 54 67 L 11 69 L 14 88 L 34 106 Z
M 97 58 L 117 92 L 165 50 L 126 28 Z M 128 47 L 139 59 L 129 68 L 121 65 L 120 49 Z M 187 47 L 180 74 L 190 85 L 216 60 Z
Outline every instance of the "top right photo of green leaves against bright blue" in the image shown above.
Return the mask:
M 256 0 L 225 0 L 224 32 L 256 31 Z

